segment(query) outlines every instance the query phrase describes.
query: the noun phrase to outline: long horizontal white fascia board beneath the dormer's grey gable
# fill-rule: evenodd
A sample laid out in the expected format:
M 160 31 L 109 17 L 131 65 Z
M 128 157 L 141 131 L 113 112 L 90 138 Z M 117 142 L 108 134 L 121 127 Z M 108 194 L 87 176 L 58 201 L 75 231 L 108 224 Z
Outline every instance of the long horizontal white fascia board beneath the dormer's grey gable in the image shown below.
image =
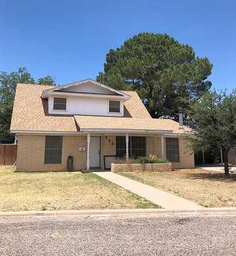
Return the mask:
M 90 94 L 90 93 L 66 93 L 66 92 L 46 92 L 43 91 L 42 98 L 47 98 L 48 96 L 77 96 L 77 97 L 83 97 L 83 98 L 113 98 L 117 100 L 128 100 L 127 97 L 122 95 L 96 95 L 96 94 Z

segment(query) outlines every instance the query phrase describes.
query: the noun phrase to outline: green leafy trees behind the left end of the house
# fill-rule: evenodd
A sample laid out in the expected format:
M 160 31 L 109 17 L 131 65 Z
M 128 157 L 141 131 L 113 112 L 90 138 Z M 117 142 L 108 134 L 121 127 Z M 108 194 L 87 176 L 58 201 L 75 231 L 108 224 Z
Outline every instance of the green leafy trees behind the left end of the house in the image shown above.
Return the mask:
M 54 79 L 50 75 L 39 78 L 39 81 L 43 84 L 54 84 Z M 0 72 L 0 143 L 14 142 L 14 137 L 10 135 L 10 119 L 17 83 L 35 83 L 35 79 L 26 68 L 18 68 L 17 72 L 10 74 Z

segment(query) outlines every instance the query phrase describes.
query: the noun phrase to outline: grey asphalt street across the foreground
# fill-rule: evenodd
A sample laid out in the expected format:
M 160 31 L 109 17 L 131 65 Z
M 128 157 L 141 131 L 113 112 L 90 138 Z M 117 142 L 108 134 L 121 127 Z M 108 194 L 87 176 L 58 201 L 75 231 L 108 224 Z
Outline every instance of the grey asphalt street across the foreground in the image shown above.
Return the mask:
M 0 255 L 236 255 L 236 217 L 0 219 Z

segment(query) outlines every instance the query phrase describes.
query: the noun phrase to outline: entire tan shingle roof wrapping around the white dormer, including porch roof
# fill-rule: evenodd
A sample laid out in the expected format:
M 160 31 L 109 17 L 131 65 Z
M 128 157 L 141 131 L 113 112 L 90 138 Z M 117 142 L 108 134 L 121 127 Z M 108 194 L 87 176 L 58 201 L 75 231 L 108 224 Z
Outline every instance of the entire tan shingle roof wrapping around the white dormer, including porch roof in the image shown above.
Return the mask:
M 134 91 L 123 91 L 131 96 L 125 101 L 125 117 L 49 115 L 47 99 L 42 99 L 41 94 L 50 88 L 53 86 L 21 83 L 16 86 L 10 131 L 77 132 L 80 128 L 184 131 L 170 119 L 152 119 Z

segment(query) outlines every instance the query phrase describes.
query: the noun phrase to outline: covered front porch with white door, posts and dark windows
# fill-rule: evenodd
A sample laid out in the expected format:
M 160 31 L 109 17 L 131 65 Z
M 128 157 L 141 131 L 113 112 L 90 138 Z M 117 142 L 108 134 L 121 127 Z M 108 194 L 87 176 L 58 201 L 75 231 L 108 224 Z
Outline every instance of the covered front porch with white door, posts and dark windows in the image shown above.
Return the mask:
M 87 133 L 86 169 L 108 170 L 118 158 L 129 160 L 150 154 L 179 163 L 179 148 L 178 137 L 167 135 Z

